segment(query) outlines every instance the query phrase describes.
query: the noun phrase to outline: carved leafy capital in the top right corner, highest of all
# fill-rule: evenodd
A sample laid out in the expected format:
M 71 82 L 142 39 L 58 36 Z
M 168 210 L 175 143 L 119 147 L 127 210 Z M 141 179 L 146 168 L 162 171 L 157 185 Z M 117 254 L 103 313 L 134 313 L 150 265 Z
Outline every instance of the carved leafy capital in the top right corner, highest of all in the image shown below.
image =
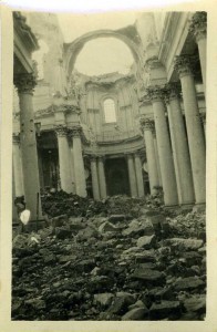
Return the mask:
M 197 11 L 189 25 L 189 32 L 195 37 L 198 42 L 200 39 L 206 39 L 207 34 L 207 12 Z

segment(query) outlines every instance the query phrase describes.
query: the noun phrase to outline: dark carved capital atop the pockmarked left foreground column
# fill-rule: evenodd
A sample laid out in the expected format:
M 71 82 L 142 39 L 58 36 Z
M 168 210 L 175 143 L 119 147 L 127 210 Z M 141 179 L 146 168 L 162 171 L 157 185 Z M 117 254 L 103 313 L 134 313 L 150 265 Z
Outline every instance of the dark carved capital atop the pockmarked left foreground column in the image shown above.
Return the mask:
M 16 74 L 13 83 L 19 93 L 33 94 L 34 86 L 37 85 L 37 79 L 33 73 Z

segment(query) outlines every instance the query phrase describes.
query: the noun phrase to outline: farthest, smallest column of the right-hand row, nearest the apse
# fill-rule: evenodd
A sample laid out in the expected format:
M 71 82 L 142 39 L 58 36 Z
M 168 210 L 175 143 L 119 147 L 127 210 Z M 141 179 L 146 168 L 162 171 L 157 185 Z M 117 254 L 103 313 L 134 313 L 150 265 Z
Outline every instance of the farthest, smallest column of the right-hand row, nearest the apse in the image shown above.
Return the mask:
M 159 178 L 153 138 L 154 121 L 141 118 L 141 125 L 144 132 L 151 194 L 155 195 L 157 193 L 155 187 L 159 186 Z

